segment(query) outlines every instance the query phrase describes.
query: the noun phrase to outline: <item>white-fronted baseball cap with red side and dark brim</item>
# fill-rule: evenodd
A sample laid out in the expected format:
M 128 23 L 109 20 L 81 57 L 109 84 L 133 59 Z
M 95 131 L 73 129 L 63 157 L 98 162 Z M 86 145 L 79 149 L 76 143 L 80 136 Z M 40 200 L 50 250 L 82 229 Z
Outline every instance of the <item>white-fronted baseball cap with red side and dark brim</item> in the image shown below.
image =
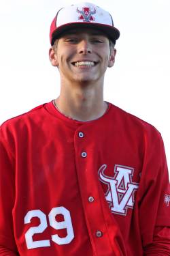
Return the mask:
M 90 27 L 103 31 L 114 43 L 120 36 L 120 31 L 114 27 L 109 12 L 93 3 L 77 3 L 58 10 L 50 26 L 51 45 L 67 29 L 76 27 Z

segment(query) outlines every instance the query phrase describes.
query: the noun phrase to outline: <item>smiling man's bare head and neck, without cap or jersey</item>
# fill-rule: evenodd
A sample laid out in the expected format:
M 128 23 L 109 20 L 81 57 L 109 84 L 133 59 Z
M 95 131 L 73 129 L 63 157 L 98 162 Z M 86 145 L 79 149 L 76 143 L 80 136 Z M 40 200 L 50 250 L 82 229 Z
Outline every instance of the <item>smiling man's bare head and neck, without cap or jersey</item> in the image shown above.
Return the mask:
M 61 93 L 54 104 L 61 113 L 79 121 L 97 119 L 107 110 L 104 75 L 116 55 L 113 42 L 103 31 L 87 27 L 63 32 L 50 48 L 51 63 L 61 75 Z

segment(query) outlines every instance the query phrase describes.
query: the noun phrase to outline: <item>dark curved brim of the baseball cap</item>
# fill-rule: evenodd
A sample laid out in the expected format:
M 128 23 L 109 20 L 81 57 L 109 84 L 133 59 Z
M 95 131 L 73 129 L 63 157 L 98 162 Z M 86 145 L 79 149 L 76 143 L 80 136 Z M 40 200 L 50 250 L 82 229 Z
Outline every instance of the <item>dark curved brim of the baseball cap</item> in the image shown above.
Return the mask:
M 120 37 L 120 31 L 118 31 L 118 29 L 116 29 L 116 27 L 112 27 L 109 25 L 103 25 L 103 24 L 99 24 L 99 23 L 69 23 L 69 24 L 62 25 L 61 27 L 58 27 L 52 33 L 51 45 L 53 45 L 55 40 L 57 38 L 60 38 L 61 35 L 65 31 L 67 31 L 68 29 L 73 29 L 73 28 L 77 28 L 77 27 L 88 27 L 88 28 L 97 29 L 99 31 L 102 31 L 114 43 Z

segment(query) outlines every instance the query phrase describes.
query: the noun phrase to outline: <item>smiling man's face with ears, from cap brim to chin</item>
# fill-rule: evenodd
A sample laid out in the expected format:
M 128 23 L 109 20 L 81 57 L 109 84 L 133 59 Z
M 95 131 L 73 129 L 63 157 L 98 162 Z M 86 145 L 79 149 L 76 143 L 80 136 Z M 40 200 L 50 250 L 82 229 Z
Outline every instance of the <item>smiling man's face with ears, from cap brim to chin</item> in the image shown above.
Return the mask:
M 71 29 L 50 50 L 53 66 L 58 66 L 63 81 L 103 83 L 105 70 L 114 65 L 116 50 L 104 33 L 96 29 Z

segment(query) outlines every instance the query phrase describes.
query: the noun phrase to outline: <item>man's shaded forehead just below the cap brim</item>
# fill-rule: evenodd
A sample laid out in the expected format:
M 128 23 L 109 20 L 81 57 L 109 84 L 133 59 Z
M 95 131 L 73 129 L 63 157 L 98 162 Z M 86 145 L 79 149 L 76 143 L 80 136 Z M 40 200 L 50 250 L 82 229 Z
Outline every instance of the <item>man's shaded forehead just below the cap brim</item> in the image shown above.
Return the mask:
M 74 29 L 67 29 L 67 31 L 63 32 L 59 38 L 63 38 L 67 35 L 92 35 L 92 36 L 103 36 L 105 38 L 108 38 L 106 33 L 104 33 L 103 31 L 99 30 L 99 29 L 90 29 L 90 28 L 86 28 L 86 27 L 77 27 Z

